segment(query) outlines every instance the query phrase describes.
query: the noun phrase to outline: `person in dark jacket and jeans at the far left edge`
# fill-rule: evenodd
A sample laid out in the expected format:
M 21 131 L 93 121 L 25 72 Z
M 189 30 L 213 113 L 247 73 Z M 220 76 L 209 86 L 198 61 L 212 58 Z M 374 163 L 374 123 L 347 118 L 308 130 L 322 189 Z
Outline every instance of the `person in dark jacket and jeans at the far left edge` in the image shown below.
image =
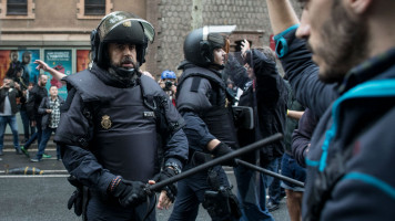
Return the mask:
M 3 85 L 0 87 L 0 156 L 3 155 L 3 138 L 6 133 L 7 124 L 10 125 L 13 135 L 13 147 L 18 155 L 21 155 L 21 149 L 19 147 L 19 134 L 17 116 L 18 106 L 17 97 L 22 95 L 20 86 L 14 83 L 11 78 L 4 77 Z

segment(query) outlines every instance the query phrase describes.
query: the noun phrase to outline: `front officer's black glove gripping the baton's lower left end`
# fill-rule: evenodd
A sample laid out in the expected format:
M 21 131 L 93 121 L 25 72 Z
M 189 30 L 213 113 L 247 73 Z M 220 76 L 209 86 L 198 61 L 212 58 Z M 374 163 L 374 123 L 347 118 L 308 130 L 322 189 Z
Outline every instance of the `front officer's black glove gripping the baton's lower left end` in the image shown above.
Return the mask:
M 110 193 L 119 199 L 123 208 L 134 207 L 146 201 L 145 185 L 141 181 L 122 179 Z

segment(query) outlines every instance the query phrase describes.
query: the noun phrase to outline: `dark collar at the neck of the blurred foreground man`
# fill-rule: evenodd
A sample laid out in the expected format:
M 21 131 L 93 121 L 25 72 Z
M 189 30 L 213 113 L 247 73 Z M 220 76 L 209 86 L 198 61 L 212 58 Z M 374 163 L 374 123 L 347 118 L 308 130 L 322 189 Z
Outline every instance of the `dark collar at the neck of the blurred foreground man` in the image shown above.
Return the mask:
M 355 66 L 344 77 L 343 83 L 338 87 L 340 94 L 344 94 L 357 84 L 369 80 L 394 78 L 395 72 L 388 72 L 388 70 L 392 70 L 391 67 L 395 67 L 394 61 L 395 48 L 392 48 L 385 53 L 368 59 L 362 64 Z

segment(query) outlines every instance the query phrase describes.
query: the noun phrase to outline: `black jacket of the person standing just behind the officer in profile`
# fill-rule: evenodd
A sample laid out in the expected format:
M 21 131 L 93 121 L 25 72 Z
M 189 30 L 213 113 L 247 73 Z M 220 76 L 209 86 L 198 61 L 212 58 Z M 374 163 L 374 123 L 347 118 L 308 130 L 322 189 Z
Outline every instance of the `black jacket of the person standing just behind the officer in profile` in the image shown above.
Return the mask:
M 253 107 L 255 128 L 252 130 L 239 129 L 237 137 L 241 146 L 252 144 L 276 133 L 284 134 L 285 131 L 288 99 L 285 82 L 280 76 L 275 62 L 269 61 L 269 59 L 259 50 L 252 50 L 251 52 L 253 57 L 253 70 L 256 77 L 255 92 L 253 92 L 253 84 L 247 84 L 249 86 L 244 88 L 245 91 L 240 97 L 239 106 Z M 236 66 L 235 64 L 230 65 Z M 244 77 L 242 74 L 243 69 L 233 70 L 239 70 L 239 72 L 234 74 L 230 73 L 229 75 L 231 76 L 231 80 L 233 80 L 236 85 L 241 84 L 240 81 L 244 83 L 246 76 L 245 70 Z M 283 154 L 284 140 L 267 145 L 261 149 L 261 162 L 265 165 L 271 160 L 281 157 Z

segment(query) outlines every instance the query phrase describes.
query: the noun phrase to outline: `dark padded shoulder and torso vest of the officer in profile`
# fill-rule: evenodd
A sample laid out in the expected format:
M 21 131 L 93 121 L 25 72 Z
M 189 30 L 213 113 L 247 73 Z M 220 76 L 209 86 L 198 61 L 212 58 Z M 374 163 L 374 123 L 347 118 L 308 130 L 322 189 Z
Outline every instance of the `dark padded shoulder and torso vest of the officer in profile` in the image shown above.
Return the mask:
M 212 107 L 198 114 L 214 137 L 233 148 L 239 148 L 232 104 L 229 102 L 233 97 L 227 93 L 225 83 L 214 72 L 195 66 L 185 69 L 179 82 L 178 92 L 181 91 L 182 84 L 188 77 L 194 77 L 190 88 L 191 92 L 198 92 L 202 78 L 210 81 L 212 90 L 207 94 L 207 97 Z

